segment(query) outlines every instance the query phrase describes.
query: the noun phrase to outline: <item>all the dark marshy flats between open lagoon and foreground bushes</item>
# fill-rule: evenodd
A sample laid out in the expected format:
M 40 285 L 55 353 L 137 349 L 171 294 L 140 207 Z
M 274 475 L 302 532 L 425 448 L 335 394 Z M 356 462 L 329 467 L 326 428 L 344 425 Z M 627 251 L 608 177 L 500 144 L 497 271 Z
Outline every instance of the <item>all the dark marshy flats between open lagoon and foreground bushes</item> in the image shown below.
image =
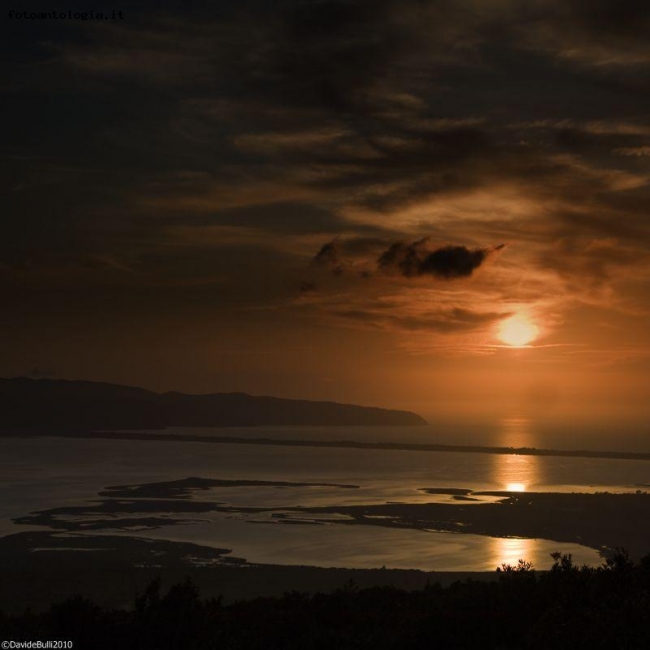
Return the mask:
M 450 584 L 494 573 L 426 572 L 404 569 L 318 568 L 254 564 L 228 548 L 148 539 L 148 529 L 191 523 L 206 513 L 237 516 L 267 513 L 274 525 L 324 524 L 380 526 L 444 531 L 491 537 L 542 538 L 570 542 L 607 554 L 625 548 L 632 558 L 650 552 L 650 495 L 473 492 L 470 489 L 422 488 L 447 502 L 331 505 L 323 507 L 241 507 L 212 501 L 211 490 L 263 483 L 278 488 L 289 482 L 187 479 L 121 485 L 104 489 L 99 499 L 79 506 L 55 507 L 16 518 L 28 530 L 0 538 L 0 608 L 45 608 L 75 593 L 107 606 L 129 606 L 156 577 L 171 584 L 190 577 L 206 596 L 225 600 L 315 593 L 341 588 L 394 585 L 418 589 L 428 582 Z M 323 484 L 301 483 L 295 486 Z M 355 490 L 350 484 L 327 484 Z M 294 486 L 294 487 L 295 487 Z M 202 498 L 193 499 L 196 493 Z M 338 515 L 332 524 L 332 515 Z M 130 531 L 138 528 L 138 537 Z M 170 535 L 171 536 L 171 535 Z M 526 558 L 523 558 L 526 559 Z

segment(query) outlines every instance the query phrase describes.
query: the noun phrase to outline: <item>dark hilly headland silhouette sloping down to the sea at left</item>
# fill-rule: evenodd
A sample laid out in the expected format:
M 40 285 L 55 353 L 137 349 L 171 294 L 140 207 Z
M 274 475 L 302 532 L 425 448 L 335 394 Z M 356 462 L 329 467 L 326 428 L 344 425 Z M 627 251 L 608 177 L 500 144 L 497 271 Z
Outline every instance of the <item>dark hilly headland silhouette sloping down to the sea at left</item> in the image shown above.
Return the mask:
M 172 426 L 422 425 L 408 411 L 336 402 L 187 395 L 92 381 L 0 379 L 0 431 L 161 429 Z

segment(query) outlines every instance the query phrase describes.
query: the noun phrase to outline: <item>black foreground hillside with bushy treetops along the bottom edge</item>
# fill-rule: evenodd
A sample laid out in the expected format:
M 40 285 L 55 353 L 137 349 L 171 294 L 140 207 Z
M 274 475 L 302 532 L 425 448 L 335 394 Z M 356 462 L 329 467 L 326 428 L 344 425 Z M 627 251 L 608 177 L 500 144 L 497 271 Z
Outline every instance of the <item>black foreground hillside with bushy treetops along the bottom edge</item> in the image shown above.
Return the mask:
M 73 640 L 75 649 L 544 649 L 650 647 L 650 556 L 601 568 L 555 557 L 536 573 L 504 567 L 493 582 L 394 587 L 281 598 L 203 600 L 190 582 L 152 583 L 132 610 L 75 597 L 42 614 L 0 615 L 3 640 Z

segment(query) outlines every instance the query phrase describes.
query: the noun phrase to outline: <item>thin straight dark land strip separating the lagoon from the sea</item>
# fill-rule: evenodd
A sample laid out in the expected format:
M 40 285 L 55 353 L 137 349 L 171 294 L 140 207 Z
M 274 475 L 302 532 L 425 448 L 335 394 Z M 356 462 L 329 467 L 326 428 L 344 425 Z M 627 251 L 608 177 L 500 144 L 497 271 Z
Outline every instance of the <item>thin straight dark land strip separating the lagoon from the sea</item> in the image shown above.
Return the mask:
M 269 445 L 277 447 L 326 447 L 334 449 L 379 449 L 387 451 L 442 451 L 472 454 L 512 454 L 518 456 L 561 456 L 569 458 L 610 458 L 615 460 L 650 460 L 650 453 L 627 451 L 590 451 L 587 449 L 537 449 L 535 447 L 483 447 L 480 445 L 433 445 L 402 442 L 356 442 L 354 440 L 279 440 L 277 438 L 238 438 L 236 436 L 198 436 L 176 433 L 138 433 L 131 431 L 40 432 L 38 435 L 66 438 L 108 438 L 111 440 L 162 440 L 173 442 L 208 442 L 228 445 Z

